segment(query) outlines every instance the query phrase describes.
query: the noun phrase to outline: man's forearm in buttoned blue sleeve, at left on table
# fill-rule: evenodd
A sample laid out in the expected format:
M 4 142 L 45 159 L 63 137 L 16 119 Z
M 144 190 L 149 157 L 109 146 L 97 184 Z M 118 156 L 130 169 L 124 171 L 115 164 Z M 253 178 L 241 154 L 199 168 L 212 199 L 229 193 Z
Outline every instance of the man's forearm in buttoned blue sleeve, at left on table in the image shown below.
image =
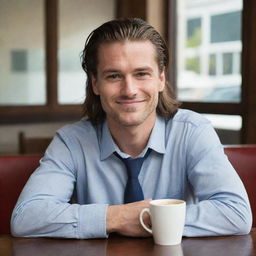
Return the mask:
M 18 237 L 106 237 L 107 205 L 78 205 L 35 200 L 18 205 L 12 215 L 12 234 Z

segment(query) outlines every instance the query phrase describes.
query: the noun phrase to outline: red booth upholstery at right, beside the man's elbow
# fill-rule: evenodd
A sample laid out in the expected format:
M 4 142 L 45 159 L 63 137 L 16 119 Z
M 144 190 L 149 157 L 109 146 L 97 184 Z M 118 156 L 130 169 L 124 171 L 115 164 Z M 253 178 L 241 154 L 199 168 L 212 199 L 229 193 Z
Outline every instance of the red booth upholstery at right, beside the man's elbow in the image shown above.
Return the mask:
M 256 227 L 256 145 L 226 146 L 224 150 L 244 183 Z

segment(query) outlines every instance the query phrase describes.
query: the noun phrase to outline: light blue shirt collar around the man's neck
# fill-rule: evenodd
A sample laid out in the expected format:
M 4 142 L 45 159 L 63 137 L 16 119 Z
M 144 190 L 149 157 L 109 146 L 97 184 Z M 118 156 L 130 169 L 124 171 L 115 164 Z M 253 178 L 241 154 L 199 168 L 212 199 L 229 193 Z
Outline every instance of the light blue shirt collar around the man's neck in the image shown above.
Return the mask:
M 164 154 L 165 153 L 165 120 L 157 116 L 154 128 L 151 132 L 148 144 L 140 156 L 144 156 L 148 148 Z M 105 120 L 102 125 L 102 133 L 100 137 L 100 159 L 105 160 L 114 152 L 119 153 L 122 157 L 127 157 L 125 153 L 121 152 L 116 143 L 114 142 L 110 131 L 108 129 L 107 121 Z

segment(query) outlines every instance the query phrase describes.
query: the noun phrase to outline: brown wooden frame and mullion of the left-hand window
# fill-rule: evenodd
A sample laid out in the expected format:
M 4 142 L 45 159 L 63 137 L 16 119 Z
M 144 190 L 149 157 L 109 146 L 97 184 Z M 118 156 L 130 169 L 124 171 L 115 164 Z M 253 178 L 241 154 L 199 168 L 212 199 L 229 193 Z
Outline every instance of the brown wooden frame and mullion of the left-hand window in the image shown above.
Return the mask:
M 58 76 L 58 0 L 44 1 L 45 29 L 45 105 L 1 105 L 0 124 L 59 122 L 82 117 L 82 104 L 60 105 L 57 99 Z

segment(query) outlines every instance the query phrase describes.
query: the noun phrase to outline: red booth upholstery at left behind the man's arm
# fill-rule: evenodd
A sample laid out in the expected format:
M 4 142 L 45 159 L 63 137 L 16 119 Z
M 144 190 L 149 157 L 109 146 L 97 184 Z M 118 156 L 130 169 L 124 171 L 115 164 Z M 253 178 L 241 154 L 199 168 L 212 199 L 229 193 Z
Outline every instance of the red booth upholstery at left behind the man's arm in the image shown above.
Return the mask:
M 10 218 L 19 194 L 41 155 L 0 156 L 0 234 L 10 233 Z

